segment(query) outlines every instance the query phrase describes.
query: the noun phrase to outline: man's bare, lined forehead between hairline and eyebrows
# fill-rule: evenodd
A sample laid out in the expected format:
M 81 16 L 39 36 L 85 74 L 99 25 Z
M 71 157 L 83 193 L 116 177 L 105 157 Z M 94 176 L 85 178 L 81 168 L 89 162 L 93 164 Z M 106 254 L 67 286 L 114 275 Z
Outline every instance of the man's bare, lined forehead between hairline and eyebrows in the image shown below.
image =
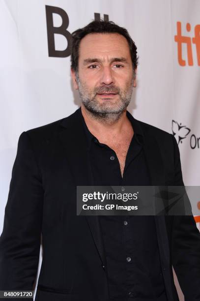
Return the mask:
M 119 33 L 89 33 L 80 42 L 79 59 L 123 56 L 131 59 L 129 44 Z

